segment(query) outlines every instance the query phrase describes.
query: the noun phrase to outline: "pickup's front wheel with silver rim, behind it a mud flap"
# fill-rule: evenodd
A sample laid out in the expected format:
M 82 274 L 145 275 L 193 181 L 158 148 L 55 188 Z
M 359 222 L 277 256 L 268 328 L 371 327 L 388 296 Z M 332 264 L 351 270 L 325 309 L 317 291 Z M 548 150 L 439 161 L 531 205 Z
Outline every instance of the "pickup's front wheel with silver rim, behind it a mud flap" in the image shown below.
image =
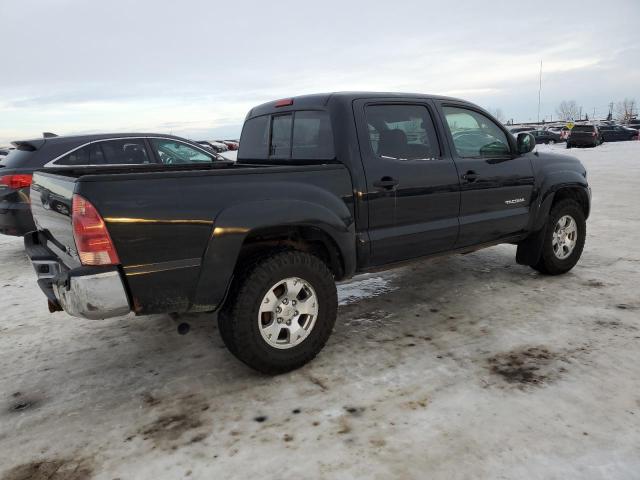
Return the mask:
M 571 270 L 582 255 L 587 233 L 582 207 L 575 200 L 561 200 L 551 208 L 542 254 L 533 268 L 546 275 Z

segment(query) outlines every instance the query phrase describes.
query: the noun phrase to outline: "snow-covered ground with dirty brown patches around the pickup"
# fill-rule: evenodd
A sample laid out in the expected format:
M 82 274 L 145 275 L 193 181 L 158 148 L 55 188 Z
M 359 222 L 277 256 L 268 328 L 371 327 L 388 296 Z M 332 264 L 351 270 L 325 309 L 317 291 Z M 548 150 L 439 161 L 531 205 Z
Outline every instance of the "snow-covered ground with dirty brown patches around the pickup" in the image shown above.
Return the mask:
M 0 479 L 640 478 L 640 142 L 569 153 L 593 187 L 572 272 L 503 245 L 356 278 L 275 378 L 214 315 L 50 315 L 0 236 Z

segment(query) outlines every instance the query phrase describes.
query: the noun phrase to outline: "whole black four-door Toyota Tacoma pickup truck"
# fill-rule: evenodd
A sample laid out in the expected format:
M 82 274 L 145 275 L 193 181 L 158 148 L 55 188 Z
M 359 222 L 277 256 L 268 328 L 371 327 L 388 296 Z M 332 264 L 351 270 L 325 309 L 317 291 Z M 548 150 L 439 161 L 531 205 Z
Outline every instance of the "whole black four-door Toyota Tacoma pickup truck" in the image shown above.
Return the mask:
M 25 244 L 51 311 L 218 310 L 228 349 L 279 373 L 322 349 L 335 281 L 356 272 L 498 243 L 542 273 L 570 270 L 587 173 L 534 146 L 454 98 L 279 100 L 249 112 L 233 165 L 37 172 Z

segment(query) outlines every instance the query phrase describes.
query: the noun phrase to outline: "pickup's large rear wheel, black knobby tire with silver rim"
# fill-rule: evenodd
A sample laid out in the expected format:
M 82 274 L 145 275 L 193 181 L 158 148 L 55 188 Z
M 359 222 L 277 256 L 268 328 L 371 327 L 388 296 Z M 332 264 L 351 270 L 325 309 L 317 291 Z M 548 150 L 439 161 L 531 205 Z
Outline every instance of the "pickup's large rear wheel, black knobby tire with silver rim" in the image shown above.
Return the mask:
M 229 351 L 267 374 L 311 361 L 329 339 L 337 316 L 336 285 L 327 265 L 308 253 L 284 251 L 245 272 L 218 316 Z

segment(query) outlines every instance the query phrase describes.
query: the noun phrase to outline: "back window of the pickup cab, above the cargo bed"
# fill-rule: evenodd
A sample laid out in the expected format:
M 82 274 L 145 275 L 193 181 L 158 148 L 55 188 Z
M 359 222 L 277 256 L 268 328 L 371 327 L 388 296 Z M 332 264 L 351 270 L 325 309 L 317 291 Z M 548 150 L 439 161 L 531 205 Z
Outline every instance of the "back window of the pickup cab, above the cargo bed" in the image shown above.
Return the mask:
M 329 114 L 300 110 L 247 120 L 238 159 L 331 160 L 335 158 Z

